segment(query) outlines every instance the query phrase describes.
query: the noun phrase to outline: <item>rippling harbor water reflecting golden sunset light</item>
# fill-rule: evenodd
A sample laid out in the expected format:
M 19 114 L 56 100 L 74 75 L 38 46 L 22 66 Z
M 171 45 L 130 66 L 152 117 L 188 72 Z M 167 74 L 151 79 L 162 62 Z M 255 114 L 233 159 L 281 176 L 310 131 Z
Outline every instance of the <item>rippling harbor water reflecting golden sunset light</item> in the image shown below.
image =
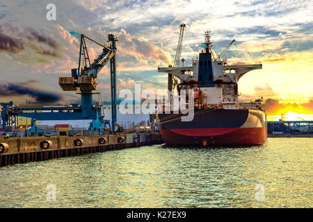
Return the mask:
M 0 168 L 0 207 L 313 207 L 313 138 L 164 145 Z

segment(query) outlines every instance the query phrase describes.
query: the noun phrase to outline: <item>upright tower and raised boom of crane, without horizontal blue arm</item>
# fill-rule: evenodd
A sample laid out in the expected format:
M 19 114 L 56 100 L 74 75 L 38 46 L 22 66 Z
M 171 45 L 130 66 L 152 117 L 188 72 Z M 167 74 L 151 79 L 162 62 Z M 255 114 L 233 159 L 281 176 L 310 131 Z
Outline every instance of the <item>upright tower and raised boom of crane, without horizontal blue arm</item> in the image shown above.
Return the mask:
M 88 55 L 88 49 L 86 45 L 86 39 L 102 46 L 102 53 L 95 58 L 93 63 L 90 63 Z M 63 91 L 77 91 L 81 94 L 81 110 L 83 112 L 83 118 L 88 119 L 90 112 L 93 112 L 92 107 L 92 96 L 98 94 L 99 96 L 99 107 L 101 114 L 93 124 L 97 128 L 101 121 L 104 127 L 108 123 L 104 121 L 103 101 L 101 94 L 96 92 L 97 88 L 97 74 L 99 71 L 110 62 L 110 75 L 111 75 L 111 129 L 114 132 L 115 122 L 117 121 L 117 108 L 116 108 L 116 42 L 117 37 L 113 34 L 109 34 L 106 40 L 106 44 L 101 44 L 90 37 L 81 34 L 81 44 L 79 49 L 79 67 L 78 69 L 72 69 L 72 77 L 60 77 L 58 84 L 61 86 Z M 98 115 L 98 114 L 97 114 Z

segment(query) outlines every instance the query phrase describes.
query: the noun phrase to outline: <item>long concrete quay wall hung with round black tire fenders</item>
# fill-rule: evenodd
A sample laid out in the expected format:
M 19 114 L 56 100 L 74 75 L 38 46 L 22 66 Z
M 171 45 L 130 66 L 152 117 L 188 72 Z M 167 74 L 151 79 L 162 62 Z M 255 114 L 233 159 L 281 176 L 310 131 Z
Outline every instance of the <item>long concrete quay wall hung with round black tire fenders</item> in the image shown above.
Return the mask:
M 1 138 L 0 166 L 161 144 L 160 133 Z

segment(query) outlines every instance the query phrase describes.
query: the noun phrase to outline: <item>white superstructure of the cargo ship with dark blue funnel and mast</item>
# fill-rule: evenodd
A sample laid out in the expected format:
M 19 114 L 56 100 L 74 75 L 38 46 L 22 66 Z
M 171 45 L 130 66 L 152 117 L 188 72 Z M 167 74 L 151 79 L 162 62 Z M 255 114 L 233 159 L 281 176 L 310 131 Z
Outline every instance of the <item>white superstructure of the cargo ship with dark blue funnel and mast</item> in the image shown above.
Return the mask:
M 214 56 L 210 31 L 204 34 L 205 50 L 192 60 L 190 67 L 158 67 L 158 72 L 168 73 L 168 89 L 198 89 L 200 102 L 207 107 L 239 109 L 238 81 L 248 71 L 262 69 L 262 64 L 227 65 L 227 60 Z M 234 42 L 234 40 L 232 41 Z M 232 43 L 231 43 L 232 44 Z M 173 76 L 180 80 L 175 84 Z M 195 104 L 198 105 L 198 104 Z M 259 101 L 262 106 L 262 101 Z

